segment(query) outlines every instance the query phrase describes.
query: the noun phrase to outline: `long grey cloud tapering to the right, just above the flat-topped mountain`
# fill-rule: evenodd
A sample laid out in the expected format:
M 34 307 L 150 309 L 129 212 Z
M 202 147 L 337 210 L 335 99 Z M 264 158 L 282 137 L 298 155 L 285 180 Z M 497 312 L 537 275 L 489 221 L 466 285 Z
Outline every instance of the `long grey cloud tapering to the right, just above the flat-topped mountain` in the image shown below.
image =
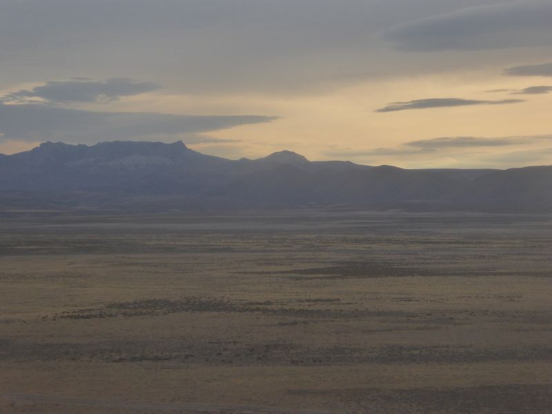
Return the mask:
M 195 116 L 155 112 L 95 112 L 40 104 L 0 103 L 0 139 L 53 139 L 71 143 L 152 137 L 174 139 L 175 136 L 259 124 L 275 119 L 277 117 L 257 115 Z

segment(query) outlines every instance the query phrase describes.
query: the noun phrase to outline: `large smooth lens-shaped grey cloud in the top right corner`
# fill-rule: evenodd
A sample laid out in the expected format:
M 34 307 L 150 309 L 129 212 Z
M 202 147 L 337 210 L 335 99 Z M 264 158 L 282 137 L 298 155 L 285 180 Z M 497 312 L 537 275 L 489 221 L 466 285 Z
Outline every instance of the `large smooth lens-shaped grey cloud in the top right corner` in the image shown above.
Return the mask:
M 466 8 L 384 32 L 402 50 L 482 50 L 552 45 L 552 3 L 514 1 Z

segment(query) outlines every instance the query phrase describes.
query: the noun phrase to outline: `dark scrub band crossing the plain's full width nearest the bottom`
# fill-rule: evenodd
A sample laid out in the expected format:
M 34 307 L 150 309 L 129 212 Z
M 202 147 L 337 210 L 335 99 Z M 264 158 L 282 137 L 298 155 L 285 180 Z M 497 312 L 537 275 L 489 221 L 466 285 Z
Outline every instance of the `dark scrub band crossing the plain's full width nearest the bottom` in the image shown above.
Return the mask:
M 344 366 L 355 364 L 474 364 L 551 361 L 551 346 L 304 346 L 290 342 L 197 341 L 173 338 L 103 342 L 12 342 L 0 346 L 0 360 L 167 362 L 174 366 Z

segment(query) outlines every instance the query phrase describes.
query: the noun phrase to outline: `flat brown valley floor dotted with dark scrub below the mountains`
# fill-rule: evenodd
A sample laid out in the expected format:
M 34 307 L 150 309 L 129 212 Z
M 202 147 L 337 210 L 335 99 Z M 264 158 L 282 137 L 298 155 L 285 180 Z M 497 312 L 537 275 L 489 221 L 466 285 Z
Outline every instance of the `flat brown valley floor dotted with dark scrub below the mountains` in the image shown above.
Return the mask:
M 552 215 L 0 215 L 1 413 L 552 413 Z

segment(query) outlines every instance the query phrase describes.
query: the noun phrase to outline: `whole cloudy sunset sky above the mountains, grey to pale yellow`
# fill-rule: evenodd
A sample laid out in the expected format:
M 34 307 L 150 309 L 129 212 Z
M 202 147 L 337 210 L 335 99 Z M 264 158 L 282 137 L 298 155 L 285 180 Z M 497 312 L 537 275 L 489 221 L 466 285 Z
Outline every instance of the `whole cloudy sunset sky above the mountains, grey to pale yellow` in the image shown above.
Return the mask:
M 552 0 L 1 0 L 0 152 L 552 164 Z

